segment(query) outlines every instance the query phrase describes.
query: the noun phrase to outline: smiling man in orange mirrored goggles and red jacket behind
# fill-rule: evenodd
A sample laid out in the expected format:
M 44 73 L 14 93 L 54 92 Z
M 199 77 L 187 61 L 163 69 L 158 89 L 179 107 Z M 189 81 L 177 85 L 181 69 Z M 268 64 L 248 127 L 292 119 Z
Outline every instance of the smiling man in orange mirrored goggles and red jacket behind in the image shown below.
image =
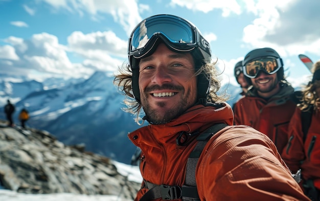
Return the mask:
M 271 48 L 255 49 L 244 57 L 243 72 L 253 87 L 234 105 L 235 124 L 265 133 L 282 153 L 296 107 L 294 88 L 284 78 L 283 61 Z

